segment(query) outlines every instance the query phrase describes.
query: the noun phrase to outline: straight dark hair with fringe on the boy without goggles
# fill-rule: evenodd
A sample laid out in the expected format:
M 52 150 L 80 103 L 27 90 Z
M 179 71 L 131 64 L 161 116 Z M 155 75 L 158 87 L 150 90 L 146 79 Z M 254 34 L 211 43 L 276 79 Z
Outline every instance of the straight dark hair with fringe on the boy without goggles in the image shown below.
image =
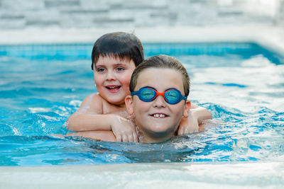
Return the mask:
M 136 67 L 144 60 L 141 41 L 131 33 L 115 32 L 102 35 L 92 50 L 92 69 L 99 57 L 133 60 Z

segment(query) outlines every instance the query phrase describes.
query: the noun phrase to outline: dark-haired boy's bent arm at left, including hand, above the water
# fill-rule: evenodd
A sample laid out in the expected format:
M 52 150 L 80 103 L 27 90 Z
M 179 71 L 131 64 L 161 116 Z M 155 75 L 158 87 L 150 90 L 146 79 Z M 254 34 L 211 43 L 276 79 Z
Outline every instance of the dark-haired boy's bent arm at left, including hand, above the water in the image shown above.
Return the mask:
M 84 99 L 79 110 L 73 113 L 66 122 L 68 130 L 112 131 L 116 141 L 136 142 L 137 134 L 133 122 L 115 114 L 102 114 L 102 99 L 92 94 Z

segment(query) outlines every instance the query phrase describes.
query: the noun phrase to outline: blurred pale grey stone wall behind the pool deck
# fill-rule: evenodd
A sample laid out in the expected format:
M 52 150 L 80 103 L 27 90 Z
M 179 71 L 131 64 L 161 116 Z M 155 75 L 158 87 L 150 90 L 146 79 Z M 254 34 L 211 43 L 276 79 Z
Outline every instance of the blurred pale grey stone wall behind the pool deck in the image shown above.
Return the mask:
M 284 25 L 283 0 L 0 0 L 0 29 Z

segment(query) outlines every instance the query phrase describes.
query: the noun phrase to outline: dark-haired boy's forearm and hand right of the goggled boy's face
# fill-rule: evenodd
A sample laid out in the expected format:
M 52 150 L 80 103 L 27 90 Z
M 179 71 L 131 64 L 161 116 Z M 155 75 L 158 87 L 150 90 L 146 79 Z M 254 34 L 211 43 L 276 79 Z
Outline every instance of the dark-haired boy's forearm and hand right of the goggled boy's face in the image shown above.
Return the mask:
M 182 118 L 178 127 L 178 135 L 198 132 L 202 121 L 211 119 L 212 115 L 206 108 L 191 104 L 190 113 L 187 118 Z

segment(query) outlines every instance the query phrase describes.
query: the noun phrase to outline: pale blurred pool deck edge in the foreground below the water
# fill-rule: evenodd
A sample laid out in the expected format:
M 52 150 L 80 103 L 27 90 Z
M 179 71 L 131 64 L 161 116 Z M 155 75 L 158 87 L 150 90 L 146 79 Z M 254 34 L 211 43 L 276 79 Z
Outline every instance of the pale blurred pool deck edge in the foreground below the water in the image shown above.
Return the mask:
M 0 188 L 283 188 L 283 162 L 0 167 Z

